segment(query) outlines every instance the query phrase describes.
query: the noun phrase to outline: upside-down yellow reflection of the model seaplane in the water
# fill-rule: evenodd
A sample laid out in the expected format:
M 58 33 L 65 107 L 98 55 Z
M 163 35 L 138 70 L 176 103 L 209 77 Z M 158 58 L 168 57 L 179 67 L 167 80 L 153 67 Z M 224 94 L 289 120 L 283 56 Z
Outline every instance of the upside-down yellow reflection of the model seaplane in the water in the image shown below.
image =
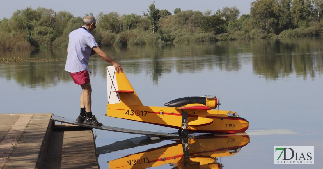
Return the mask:
M 109 161 L 109 168 L 141 169 L 165 164 L 172 168 L 222 168 L 224 164 L 219 158 L 238 153 L 250 142 L 250 138 L 248 135 L 236 135 L 172 141 L 175 143 Z

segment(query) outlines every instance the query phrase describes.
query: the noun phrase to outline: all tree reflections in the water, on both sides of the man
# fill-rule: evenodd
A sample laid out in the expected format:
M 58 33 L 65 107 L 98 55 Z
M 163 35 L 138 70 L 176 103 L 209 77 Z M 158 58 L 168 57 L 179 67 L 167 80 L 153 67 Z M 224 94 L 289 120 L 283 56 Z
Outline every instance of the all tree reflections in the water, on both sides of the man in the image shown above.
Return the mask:
M 151 76 L 154 83 L 158 83 L 162 75 L 172 71 L 179 74 L 194 74 L 214 69 L 238 72 L 243 64 L 250 62 L 253 65 L 253 73 L 266 79 L 288 78 L 294 74 L 304 79 L 313 79 L 323 71 L 321 39 L 132 45 L 105 47 L 103 50 L 119 62 L 127 74 L 145 72 Z M 12 51 L 8 57 L 17 55 L 21 56 L 20 58 L 64 58 L 66 50 L 51 49 L 25 53 Z M 93 72 L 91 75 L 106 78 L 105 70 L 109 65 L 99 56 L 92 56 L 89 64 Z M 0 77 L 14 78 L 18 84 L 30 87 L 55 85 L 59 81 L 71 82 L 64 67 L 65 61 L 5 64 L 0 66 Z

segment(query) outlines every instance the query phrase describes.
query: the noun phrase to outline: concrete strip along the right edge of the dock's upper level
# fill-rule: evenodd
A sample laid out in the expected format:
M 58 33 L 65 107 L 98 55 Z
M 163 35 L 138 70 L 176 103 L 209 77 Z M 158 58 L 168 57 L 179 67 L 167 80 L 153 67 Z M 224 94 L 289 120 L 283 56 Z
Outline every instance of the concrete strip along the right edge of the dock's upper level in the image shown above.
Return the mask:
M 5 163 L 4 169 L 42 168 L 42 161 L 46 150 L 44 147 L 47 147 L 48 139 L 52 131 L 52 122 L 50 120 L 52 114 L 23 114 L 20 117 L 28 115 L 32 117 L 28 119 L 29 123 L 25 125 L 26 128 L 14 146 L 7 163 Z M 17 125 L 23 126 L 24 124 L 18 123 Z

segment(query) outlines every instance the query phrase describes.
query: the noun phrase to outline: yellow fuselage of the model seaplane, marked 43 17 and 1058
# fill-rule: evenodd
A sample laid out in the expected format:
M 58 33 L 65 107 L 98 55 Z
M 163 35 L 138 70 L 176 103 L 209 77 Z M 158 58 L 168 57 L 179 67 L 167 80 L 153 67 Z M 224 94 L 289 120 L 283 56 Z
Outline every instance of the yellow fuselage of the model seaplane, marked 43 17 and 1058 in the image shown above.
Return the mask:
M 224 110 L 184 110 L 188 113 L 188 131 L 199 133 L 237 133 L 248 129 L 249 123 L 243 118 L 227 114 L 235 113 Z M 154 107 L 108 104 L 107 116 L 134 120 L 149 124 L 180 129 L 182 109 L 173 107 Z

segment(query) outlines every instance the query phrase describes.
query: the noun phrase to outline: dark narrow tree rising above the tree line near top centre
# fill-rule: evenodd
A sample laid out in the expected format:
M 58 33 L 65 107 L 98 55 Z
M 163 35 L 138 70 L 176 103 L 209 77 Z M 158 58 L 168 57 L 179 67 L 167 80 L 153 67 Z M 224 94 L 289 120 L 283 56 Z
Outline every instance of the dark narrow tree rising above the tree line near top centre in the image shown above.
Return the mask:
M 159 9 L 156 9 L 154 3 L 155 1 L 148 6 L 149 9 L 147 9 L 147 12 L 149 12 L 149 14 L 143 12 L 143 15 L 147 16 L 147 18 L 150 20 L 151 30 L 153 33 L 158 30 L 158 21 L 161 18 L 161 11 Z

